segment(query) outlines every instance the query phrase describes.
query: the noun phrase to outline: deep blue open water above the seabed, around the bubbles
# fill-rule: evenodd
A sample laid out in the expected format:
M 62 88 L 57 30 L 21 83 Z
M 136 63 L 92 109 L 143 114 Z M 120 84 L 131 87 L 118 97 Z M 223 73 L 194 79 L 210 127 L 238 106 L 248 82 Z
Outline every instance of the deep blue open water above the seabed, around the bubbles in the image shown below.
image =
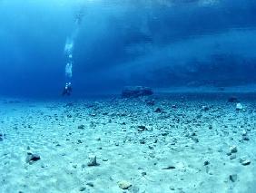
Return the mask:
M 59 96 L 76 28 L 74 96 L 256 83 L 253 0 L 1 0 L 0 13 L 3 95 Z

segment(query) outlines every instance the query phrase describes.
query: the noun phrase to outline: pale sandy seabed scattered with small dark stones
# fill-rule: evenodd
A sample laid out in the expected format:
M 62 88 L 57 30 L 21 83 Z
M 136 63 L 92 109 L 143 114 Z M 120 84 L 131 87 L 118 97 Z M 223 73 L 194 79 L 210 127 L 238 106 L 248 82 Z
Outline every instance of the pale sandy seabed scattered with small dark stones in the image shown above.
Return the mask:
M 230 96 L 1 98 L 0 192 L 256 192 L 256 94 Z

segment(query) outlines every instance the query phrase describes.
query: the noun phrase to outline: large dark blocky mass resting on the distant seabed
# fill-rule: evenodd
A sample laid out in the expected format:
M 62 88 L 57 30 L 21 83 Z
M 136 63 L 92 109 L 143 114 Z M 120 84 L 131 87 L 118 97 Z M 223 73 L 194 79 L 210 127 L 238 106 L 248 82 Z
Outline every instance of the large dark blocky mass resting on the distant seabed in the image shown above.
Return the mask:
M 123 88 L 123 98 L 133 98 L 140 96 L 149 96 L 153 94 L 153 90 L 144 86 L 126 86 Z

